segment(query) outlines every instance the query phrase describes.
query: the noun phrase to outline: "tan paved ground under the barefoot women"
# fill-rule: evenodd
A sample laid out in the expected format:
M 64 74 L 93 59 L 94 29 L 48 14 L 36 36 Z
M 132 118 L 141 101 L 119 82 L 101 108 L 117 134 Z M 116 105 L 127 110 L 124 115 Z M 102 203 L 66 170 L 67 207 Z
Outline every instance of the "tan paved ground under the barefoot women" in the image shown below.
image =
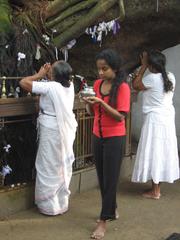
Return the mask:
M 180 182 L 162 185 L 162 198 L 147 200 L 141 192 L 148 184 L 123 183 L 119 187 L 120 219 L 109 223 L 105 240 L 164 240 L 180 233 Z M 86 240 L 99 212 L 99 191 L 74 196 L 70 211 L 46 217 L 30 209 L 0 221 L 0 240 Z

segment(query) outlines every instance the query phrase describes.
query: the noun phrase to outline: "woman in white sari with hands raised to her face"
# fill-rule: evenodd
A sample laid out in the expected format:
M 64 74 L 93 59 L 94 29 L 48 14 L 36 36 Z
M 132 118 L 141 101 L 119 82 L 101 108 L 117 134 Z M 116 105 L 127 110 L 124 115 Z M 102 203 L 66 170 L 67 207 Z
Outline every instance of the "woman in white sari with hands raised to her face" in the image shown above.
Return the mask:
M 39 146 L 36 156 L 35 203 L 47 215 L 68 210 L 77 122 L 73 113 L 72 69 L 64 61 L 45 64 L 37 74 L 20 81 L 28 92 L 40 94 Z M 45 76 L 48 82 L 37 82 Z

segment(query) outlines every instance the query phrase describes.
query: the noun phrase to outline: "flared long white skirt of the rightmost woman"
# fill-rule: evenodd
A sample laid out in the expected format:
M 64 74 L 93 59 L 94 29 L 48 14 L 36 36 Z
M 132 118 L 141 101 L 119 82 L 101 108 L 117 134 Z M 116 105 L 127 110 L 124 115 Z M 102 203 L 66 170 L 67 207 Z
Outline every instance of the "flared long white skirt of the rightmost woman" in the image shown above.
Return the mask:
M 173 183 L 180 178 L 175 112 L 150 112 L 144 123 L 137 149 L 132 181 Z

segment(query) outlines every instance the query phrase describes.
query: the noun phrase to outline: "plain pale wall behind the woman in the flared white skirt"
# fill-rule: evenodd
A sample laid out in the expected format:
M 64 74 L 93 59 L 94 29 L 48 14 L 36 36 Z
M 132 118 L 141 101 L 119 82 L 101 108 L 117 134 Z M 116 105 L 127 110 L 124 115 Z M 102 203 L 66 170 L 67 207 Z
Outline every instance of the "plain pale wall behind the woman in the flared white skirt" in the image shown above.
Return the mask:
M 174 73 L 176 77 L 176 89 L 174 94 L 174 106 L 176 110 L 176 131 L 178 147 L 180 149 L 180 44 L 163 51 L 167 58 L 167 71 Z M 141 112 L 142 97 L 138 94 L 137 102 L 132 105 L 132 136 L 138 141 L 142 126 Z

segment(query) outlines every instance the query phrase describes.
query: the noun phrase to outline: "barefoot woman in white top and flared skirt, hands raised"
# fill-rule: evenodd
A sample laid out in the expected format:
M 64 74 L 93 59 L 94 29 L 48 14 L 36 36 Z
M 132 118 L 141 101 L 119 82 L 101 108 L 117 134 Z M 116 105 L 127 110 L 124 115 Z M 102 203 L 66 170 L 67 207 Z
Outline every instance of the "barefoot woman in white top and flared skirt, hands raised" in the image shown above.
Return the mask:
M 144 52 L 141 63 L 133 87 L 143 91 L 143 126 L 132 181 L 152 180 L 152 189 L 143 196 L 159 199 L 160 183 L 173 183 L 180 177 L 173 106 L 175 77 L 166 73 L 166 58 L 157 50 Z M 150 73 L 143 77 L 147 68 Z

